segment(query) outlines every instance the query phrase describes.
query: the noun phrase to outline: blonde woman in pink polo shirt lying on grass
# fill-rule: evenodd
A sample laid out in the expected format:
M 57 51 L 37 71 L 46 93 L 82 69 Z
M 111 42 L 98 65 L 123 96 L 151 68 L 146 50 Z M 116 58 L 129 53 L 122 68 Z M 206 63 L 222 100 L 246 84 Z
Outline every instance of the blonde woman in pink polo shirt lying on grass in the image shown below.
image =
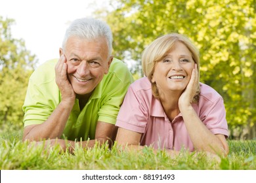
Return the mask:
M 153 41 L 142 54 L 146 77 L 131 84 L 119 110 L 117 144 L 228 154 L 223 98 L 199 82 L 199 66 L 198 49 L 184 35 Z

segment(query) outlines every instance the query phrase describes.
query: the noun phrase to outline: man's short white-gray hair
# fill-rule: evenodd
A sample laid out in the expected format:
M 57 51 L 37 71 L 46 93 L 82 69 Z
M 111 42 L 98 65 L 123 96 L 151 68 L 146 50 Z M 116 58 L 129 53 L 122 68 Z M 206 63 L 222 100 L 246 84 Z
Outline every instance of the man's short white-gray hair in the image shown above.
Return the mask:
M 68 38 L 72 36 L 81 37 L 81 39 L 87 39 L 89 41 L 104 37 L 108 44 L 108 56 L 112 54 L 112 31 L 108 24 L 101 20 L 96 20 L 95 18 L 80 18 L 74 20 L 66 30 L 62 42 L 62 49 L 65 49 Z

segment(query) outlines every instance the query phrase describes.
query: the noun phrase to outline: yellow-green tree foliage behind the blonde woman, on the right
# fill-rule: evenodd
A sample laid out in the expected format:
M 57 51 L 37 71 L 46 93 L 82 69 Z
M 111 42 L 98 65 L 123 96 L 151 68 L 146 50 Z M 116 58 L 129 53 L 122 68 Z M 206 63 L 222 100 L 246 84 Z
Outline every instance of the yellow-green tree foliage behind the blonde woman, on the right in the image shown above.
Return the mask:
M 137 60 L 157 37 L 177 32 L 200 49 L 200 80 L 219 92 L 231 137 L 256 137 L 255 0 L 112 0 L 113 10 L 100 12 L 114 34 L 114 55 Z M 98 15 L 100 16 L 100 14 Z

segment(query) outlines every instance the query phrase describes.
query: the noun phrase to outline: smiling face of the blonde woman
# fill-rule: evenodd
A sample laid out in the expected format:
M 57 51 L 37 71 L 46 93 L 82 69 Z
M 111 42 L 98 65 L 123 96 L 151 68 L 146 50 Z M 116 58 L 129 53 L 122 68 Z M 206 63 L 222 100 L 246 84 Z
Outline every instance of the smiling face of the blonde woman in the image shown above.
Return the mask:
M 175 42 L 173 48 L 156 63 L 152 82 L 156 82 L 161 93 L 183 92 L 188 85 L 194 60 L 190 50 L 182 43 Z

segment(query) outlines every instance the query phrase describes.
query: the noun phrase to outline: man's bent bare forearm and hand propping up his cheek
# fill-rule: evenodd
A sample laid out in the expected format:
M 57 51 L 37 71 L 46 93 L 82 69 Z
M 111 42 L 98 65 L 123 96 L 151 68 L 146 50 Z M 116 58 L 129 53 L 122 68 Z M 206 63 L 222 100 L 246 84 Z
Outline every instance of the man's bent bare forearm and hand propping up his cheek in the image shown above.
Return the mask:
M 62 54 L 55 66 L 55 81 L 60 90 L 62 101 L 60 101 L 45 122 L 42 124 L 28 125 L 24 128 L 23 141 L 41 141 L 41 139 L 54 139 L 55 141 L 56 138 L 62 137 L 70 112 L 75 103 L 75 92 L 68 80 L 67 70 L 66 58 Z M 64 142 L 59 142 L 61 146 L 64 145 Z

